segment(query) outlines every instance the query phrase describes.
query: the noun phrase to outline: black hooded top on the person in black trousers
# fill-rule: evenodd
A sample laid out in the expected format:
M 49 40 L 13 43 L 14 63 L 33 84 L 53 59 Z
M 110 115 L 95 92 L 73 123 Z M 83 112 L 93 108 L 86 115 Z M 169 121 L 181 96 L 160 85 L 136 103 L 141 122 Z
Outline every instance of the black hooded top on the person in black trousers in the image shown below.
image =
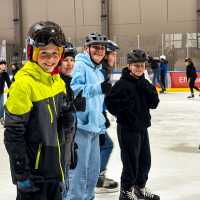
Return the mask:
M 158 106 L 159 98 L 155 87 L 144 75 L 136 79 L 125 68 L 105 103 L 109 112 L 117 117 L 117 123 L 121 127 L 143 130 L 151 125 L 149 109 Z

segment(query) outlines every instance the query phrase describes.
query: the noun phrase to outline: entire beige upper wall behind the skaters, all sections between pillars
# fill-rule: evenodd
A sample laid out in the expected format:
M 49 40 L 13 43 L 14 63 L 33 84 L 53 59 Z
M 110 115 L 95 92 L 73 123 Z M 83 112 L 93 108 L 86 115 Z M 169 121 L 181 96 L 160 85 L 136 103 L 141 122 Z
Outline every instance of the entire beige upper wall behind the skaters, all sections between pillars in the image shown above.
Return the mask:
M 196 32 L 197 0 L 110 0 L 110 35 L 122 48 L 137 34 Z M 23 36 L 36 21 L 53 20 L 81 44 L 100 31 L 101 0 L 22 0 Z M 0 40 L 14 43 L 13 0 L 0 0 Z

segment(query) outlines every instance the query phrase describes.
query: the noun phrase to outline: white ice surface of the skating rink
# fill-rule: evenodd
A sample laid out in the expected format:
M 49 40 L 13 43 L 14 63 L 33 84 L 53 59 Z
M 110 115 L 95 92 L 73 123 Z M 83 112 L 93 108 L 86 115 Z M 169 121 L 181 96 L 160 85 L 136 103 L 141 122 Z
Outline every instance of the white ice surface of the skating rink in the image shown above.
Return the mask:
M 152 167 L 147 187 L 160 195 L 161 200 L 200 200 L 200 97 L 187 99 L 186 93 L 160 95 L 160 105 L 152 114 L 149 128 Z M 109 133 L 114 150 L 107 176 L 120 180 L 121 160 L 114 117 Z M 14 200 L 8 156 L 0 129 L 0 199 Z M 99 194 L 96 200 L 117 200 L 119 193 Z

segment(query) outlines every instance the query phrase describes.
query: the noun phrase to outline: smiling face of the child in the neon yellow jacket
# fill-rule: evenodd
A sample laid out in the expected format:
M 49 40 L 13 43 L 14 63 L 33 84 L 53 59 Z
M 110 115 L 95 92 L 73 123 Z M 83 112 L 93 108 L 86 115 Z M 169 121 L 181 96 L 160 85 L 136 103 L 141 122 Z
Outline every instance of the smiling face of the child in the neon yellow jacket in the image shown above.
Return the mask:
M 50 43 L 45 47 L 39 48 L 37 63 L 45 72 L 51 73 L 58 65 L 60 58 L 58 47 Z

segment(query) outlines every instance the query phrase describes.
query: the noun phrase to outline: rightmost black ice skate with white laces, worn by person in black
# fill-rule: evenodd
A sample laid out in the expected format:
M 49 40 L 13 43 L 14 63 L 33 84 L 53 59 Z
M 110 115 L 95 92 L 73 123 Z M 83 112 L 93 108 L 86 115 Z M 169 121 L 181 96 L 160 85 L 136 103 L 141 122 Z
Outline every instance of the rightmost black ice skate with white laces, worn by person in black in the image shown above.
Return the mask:
M 151 191 L 147 188 L 135 187 L 134 192 L 138 200 L 160 200 L 158 195 L 152 194 Z

